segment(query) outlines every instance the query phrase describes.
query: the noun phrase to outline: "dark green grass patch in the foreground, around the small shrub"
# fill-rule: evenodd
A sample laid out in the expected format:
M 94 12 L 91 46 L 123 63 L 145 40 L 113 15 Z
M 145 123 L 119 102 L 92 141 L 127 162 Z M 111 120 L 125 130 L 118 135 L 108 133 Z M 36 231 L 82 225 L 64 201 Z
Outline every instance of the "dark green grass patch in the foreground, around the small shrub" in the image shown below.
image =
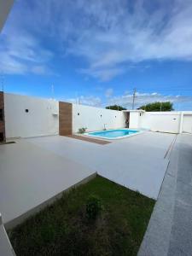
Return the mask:
M 102 211 L 86 218 L 86 201 L 96 195 Z M 137 255 L 154 200 L 97 176 L 64 193 L 38 214 L 9 231 L 17 256 Z

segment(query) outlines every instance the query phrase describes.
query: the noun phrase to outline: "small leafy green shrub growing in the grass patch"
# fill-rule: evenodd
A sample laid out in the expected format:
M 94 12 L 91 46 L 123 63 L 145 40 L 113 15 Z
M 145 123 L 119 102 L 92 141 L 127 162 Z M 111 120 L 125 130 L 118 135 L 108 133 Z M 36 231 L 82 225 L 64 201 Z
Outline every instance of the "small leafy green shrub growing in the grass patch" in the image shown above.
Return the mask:
M 101 201 L 96 195 L 90 195 L 86 202 L 86 216 L 87 218 L 94 220 L 98 216 L 98 213 L 102 209 Z

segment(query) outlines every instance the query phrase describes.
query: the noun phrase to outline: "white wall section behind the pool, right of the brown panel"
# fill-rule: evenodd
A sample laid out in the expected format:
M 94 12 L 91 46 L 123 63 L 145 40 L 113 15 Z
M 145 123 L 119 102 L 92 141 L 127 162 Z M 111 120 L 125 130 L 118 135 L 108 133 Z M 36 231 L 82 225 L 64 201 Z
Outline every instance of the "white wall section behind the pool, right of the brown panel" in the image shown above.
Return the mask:
M 82 127 L 86 127 L 86 131 L 101 131 L 104 124 L 106 129 L 124 128 L 125 113 L 73 104 L 73 133 L 78 132 Z

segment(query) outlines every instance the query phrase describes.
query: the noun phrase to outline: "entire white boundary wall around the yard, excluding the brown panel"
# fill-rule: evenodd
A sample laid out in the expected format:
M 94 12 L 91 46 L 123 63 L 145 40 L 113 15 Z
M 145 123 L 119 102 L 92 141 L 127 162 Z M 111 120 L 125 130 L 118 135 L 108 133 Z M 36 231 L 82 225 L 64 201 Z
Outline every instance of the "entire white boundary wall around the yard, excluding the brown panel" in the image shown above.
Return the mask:
M 7 138 L 59 134 L 59 102 L 55 100 L 5 93 L 4 112 Z M 123 111 L 73 104 L 73 133 L 82 127 L 87 131 L 125 128 L 126 117 Z M 130 128 L 192 133 L 192 112 L 130 111 Z

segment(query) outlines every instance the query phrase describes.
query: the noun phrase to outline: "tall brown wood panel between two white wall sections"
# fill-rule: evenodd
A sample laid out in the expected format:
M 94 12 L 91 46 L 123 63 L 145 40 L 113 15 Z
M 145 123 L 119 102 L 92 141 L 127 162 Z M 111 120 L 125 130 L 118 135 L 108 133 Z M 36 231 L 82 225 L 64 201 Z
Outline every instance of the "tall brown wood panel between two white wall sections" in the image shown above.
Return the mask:
M 72 125 L 72 104 L 67 102 L 59 102 L 60 135 L 72 135 Z

